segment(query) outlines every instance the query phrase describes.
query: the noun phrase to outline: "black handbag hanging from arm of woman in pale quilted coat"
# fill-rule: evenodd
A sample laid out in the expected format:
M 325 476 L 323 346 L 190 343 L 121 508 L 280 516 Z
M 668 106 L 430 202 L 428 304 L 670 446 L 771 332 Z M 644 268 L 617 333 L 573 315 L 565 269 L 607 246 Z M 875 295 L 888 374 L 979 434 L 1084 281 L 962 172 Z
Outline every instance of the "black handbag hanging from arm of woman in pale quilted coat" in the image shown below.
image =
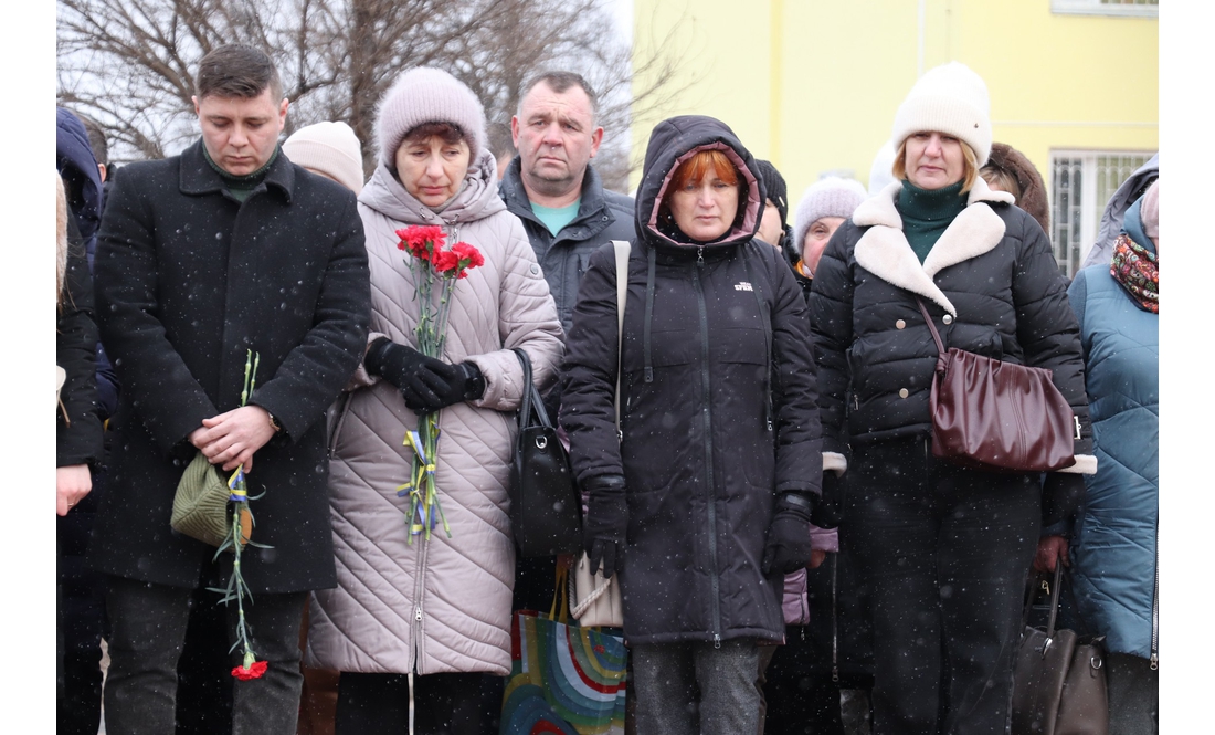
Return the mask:
M 556 429 L 532 383 L 531 360 L 515 347 L 524 368 L 524 400 L 510 465 L 510 530 L 520 556 L 582 550 L 582 498 Z

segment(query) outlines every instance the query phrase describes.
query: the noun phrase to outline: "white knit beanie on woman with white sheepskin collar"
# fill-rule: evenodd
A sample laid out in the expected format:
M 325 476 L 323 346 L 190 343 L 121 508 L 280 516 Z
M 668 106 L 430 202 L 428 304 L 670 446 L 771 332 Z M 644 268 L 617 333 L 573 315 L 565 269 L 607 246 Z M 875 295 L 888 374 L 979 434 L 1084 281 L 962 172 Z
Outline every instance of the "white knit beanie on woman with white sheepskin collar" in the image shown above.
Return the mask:
M 891 142 L 898 149 L 915 132 L 945 132 L 974 151 L 978 165 L 991 154 L 991 102 L 983 78 L 963 63 L 925 72 L 894 115 Z

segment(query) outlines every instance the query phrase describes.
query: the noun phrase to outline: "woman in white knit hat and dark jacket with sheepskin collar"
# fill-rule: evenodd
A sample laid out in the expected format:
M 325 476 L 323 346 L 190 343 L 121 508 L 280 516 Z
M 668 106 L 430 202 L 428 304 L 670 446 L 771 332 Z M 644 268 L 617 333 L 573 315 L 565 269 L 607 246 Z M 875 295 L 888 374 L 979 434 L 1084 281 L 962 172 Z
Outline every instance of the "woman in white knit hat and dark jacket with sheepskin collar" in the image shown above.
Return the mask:
M 978 176 L 987 85 L 953 62 L 899 106 L 895 182 L 841 225 L 815 271 L 824 450 L 850 452 L 842 544 L 872 595 L 874 731 L 1004 733 L 1025 573 L 1044 526 L 1092 473 L 1075 316 L 1042 228 Z M 1078 419 L 1075 464 L 966 469 L 933 454 L 937 345 L 1052 371 Z

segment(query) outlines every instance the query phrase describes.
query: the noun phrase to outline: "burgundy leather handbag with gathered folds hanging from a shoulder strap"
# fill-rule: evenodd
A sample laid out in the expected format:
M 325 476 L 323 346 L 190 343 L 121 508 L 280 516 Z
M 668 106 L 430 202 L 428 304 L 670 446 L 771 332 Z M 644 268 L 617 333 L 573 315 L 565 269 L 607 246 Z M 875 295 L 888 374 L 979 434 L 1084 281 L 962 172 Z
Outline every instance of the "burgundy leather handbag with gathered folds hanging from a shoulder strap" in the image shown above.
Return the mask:
M 1045 473 L 1075 464 L 1080 424 L 1051 371 L 945 350 L 923 301 L 916 304 L 938 352 L 928 398 L 932 453 L 983 470 Z

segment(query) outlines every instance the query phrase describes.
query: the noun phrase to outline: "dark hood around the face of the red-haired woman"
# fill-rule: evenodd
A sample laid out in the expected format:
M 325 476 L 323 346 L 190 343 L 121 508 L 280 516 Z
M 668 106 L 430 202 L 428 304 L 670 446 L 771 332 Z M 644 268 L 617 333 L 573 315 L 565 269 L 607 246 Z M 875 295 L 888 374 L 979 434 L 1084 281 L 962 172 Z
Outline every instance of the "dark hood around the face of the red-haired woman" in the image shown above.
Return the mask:
M 735 217 L 730 231 L 706 247 L 738 245 L 755 237 L 765 197 L 763 183 L 756 176 L 755 158 L 725 123 L 705 115 L 679 115 L 659 123 L 650 132 L 633 215 L 638 238 L 660 248 L 686 247 L 686 243 L 679 243 L 659 230 L 659 203 L 679 164 L 699 151 L 714 148 L 723 151 L 742 175 L 746 199 L 739 203 L 742 213 Z

